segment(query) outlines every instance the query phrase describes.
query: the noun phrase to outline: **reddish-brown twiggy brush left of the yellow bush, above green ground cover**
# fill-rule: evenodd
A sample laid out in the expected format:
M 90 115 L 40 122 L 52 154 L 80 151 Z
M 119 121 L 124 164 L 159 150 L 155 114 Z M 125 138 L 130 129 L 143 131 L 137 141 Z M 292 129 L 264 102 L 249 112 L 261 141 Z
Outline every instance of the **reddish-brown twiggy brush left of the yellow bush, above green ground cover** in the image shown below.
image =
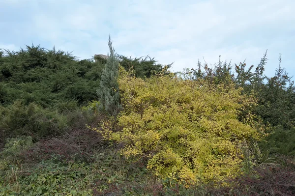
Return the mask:
M 60 137 L 39 140 L 21 154 L 22 159 L 29 163 L 38 163 L 49 159 L 53 155 L 62 155 L 65 159 L 90 161 L 93 151 L 102 150 L 107 143 L 101 134 L 89 130 L 76 128 Z

